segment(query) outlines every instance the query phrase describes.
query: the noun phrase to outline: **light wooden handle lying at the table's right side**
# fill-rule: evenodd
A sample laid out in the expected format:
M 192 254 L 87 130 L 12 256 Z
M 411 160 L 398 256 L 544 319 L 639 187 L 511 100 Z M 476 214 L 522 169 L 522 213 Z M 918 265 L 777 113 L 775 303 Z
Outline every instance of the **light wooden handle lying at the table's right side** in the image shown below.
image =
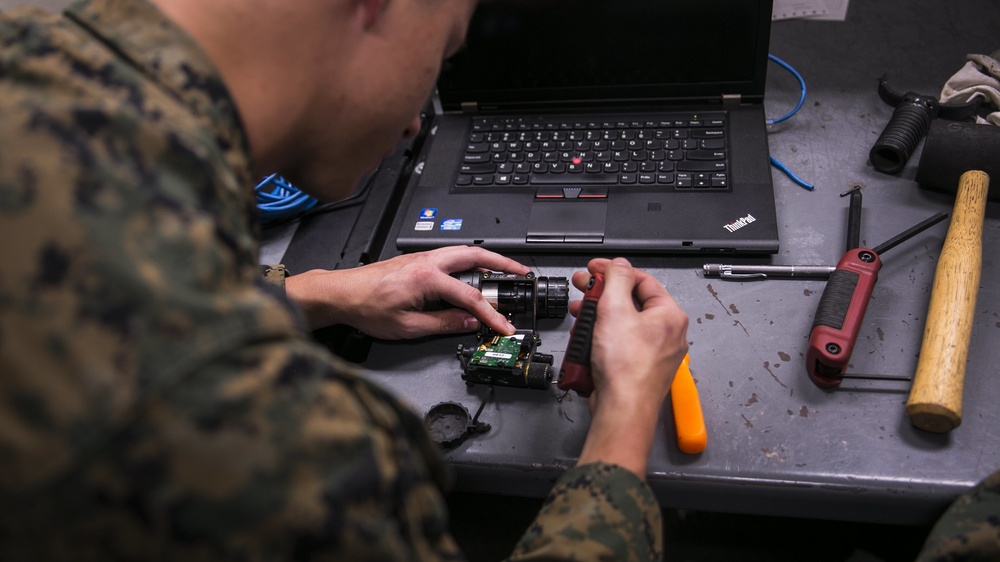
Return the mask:
M 917 374 L 906 401 L 910 423 L 926 431 L 946 433 L 962 423 L 962 386 L 982 272 L 989 185 L 989 176 L 978 170 L 959 178 L 955 210 L 934 272 Z

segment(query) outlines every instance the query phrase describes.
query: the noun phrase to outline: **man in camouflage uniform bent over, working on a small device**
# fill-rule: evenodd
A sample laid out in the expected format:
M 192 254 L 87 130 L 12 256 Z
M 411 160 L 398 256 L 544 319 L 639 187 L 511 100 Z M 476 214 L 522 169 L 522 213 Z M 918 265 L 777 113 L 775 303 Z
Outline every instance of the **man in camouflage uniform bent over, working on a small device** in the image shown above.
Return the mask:
M 0 559 L 461 558 L 419 418 L 308 329 L 509 331 L 449 274 L 527 268 L 448 248 L 295 275 L 286 297 L 263 286 L 252 185 L 344 197 L 415 130 L 473 4 L 0 15 Z M 625 260 L 589 269 L 591 428 L 515 559 L 661 556 L 643 477 L 687 317 Z

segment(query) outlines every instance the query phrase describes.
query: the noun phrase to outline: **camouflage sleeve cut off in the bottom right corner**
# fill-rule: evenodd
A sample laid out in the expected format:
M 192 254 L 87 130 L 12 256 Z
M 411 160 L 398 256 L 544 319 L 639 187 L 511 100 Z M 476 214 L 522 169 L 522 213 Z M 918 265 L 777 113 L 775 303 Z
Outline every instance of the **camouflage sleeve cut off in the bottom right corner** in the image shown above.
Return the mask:
M 917 556 L 917 562 L 958 560 L 1000 560 L 1000 471 L 952 503 Z

